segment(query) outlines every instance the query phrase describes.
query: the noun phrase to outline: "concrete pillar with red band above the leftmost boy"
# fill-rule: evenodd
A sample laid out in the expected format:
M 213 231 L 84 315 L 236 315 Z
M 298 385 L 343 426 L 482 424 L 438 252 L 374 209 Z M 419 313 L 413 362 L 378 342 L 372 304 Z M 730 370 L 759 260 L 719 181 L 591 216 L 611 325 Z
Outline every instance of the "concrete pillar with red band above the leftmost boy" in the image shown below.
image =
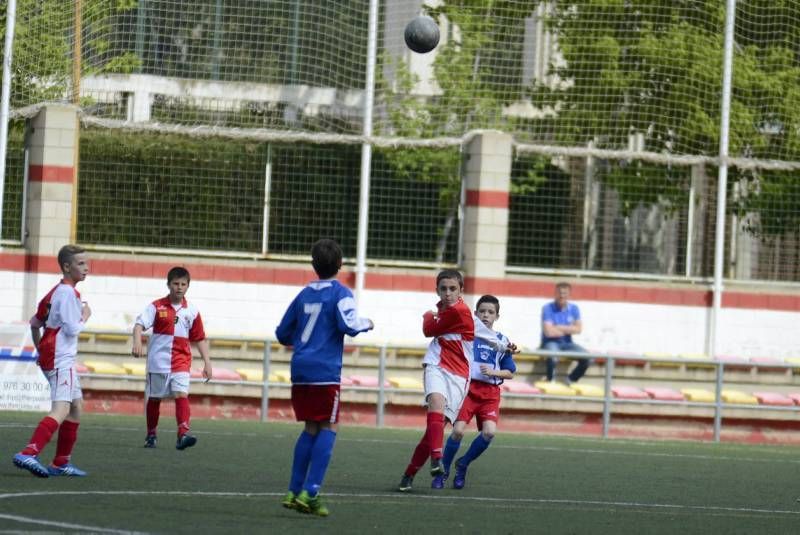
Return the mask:
M 75 239 L 77 143 L 78 113 L 74 106 L 47 105 L 28 121 L 24 242 L 28 265 L 25 317 L 21 319 L 30 317 L 38 299 L 55 282 L 55 277 L 39 277 L 39 272 L 60 273 L 58 250 Z

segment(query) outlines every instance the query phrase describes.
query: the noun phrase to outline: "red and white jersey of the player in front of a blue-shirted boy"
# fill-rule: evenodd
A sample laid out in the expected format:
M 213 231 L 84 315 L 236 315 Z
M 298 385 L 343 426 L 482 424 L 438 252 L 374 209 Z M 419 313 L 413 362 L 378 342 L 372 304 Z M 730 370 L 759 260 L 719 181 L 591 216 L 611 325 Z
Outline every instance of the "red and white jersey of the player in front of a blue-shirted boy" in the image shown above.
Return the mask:
M 464 378 L 470 376 L 476 336 L 498 350 L 505 351 L 508 347 L 506 342 L 500 340 L 494 331 L 472 314 L 461 299 L 451 307 L 440 307 L 437 315 L 426 312 L 422 319 L 422 332 L 425 336 L 433 336 L 422 362 L 435 364 Z

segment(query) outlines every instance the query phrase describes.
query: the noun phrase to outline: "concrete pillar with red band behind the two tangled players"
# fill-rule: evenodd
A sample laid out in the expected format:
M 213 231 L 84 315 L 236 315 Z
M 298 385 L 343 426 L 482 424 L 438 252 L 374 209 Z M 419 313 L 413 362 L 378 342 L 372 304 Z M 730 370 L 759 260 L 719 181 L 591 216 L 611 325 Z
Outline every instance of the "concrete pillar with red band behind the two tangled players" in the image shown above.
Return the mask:
M 503 278 L 508 244 L 512 138 L 477 134 L 466 147 L 463 266 L 468 277 Z

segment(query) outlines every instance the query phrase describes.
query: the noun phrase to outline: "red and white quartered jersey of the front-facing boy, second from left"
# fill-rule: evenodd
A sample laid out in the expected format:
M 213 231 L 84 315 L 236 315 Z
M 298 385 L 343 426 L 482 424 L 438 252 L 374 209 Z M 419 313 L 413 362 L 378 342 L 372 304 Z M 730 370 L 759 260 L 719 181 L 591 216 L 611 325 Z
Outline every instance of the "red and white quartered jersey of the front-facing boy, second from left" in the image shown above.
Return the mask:
M 200 312 L 184 299 L 173 305 L 169 296 L 157 299 L 136 318 L 144 330 L 152 327 L 147 344 L 147 371 L 188 372 L 192 365 L 192 342 L 205 340 Z

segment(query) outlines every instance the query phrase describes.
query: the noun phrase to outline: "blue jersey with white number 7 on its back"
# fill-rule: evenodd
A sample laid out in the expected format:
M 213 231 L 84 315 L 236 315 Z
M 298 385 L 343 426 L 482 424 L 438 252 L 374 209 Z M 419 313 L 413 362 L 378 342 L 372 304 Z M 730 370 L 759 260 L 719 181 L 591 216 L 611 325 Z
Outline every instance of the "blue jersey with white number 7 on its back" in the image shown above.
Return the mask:
M 303 288 L 275 330 L 278 341 L 293 346 L 293 384 L 339 384 L 344 336 L 368 331 L 371 323 L 358 317 L 349 288 L 335 279 Z

